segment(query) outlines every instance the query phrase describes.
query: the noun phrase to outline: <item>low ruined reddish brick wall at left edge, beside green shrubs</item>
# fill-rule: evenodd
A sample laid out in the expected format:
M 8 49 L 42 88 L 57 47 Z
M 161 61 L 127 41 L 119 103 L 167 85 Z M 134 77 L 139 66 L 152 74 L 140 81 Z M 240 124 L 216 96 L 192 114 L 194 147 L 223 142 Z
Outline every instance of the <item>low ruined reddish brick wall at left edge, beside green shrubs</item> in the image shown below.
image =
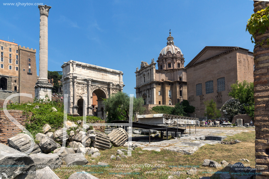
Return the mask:
M 8 112 L 15 120 L 24 126 L 27 118 L 23 115 L 23 111 L 8 110 Z M 31 114 L 29 117 L 31 117 Z M 7 144 L 7 140 L 10 137 L 17 135 L 20 132 L 22 132 L 22 130 L 6 117 L 4 110 L 0 110 L 0 143 Z

